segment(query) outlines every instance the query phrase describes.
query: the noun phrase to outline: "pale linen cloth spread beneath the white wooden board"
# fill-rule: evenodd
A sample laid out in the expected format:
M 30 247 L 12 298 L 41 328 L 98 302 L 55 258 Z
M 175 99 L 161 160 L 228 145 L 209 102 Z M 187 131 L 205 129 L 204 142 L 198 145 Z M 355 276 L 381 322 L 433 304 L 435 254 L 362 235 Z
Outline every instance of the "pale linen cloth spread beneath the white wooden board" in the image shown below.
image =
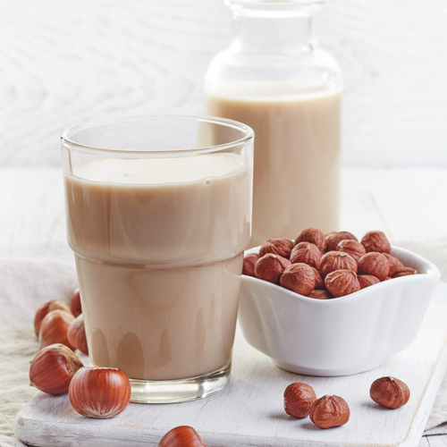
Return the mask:
M 39 350 L 33 325 L 36 310 L 46 299 L 68 304 L 76 286 L 72 264 L 0 259 L 0 447 L 24 445 L 14 436 L 14 418 L 38 392 L 29 379 L 30 361 Z M 447 434 L 447 376 L 425 434 Z

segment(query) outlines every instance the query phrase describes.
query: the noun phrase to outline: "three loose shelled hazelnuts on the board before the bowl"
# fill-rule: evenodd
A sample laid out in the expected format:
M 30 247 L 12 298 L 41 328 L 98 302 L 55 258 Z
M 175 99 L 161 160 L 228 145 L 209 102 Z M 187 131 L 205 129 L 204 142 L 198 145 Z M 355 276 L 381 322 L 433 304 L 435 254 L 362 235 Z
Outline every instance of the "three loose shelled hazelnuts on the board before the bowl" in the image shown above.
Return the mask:
M 409 387 L 394 377 L 381 377 L 369 390 L 373 401 L 387 409 L 398 409 L 409 401 Z M 309 384 L 296 382 L 284 391 L 284 410 L 292 417 L 310 417 L 320 428 L 343 426 L 350 420 L 350 407 L 339 396 L 326 394 L 316 399 Z

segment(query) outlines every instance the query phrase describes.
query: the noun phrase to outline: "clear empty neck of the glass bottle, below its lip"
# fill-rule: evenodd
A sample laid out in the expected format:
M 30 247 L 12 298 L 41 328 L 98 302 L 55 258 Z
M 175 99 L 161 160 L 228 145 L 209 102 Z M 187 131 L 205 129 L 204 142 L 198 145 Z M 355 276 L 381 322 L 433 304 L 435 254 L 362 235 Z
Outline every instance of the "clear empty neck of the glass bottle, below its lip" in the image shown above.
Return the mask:
M 301 54 L 312 51 L 312 17 L 259 18 L 232 14 L 232 46 L 241 52 Z

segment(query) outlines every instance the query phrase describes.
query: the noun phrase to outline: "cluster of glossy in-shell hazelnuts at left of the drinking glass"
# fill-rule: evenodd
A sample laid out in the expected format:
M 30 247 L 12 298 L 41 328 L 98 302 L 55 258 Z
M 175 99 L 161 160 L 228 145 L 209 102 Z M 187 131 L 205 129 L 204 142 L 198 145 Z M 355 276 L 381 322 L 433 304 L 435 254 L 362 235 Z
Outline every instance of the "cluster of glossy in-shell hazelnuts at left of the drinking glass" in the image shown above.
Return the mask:
M 30 382 L 48 394 L 69 393 L 80 415 L 114 417 L 131 401 L 131 382 L 118 368 L 84 367 L 73 350 L 89 353 L 80 291 L 72 293 L 70 308 L 59 299 L 46 301 L 36 313 L 34 330 L 40 351 L 31 361 Z

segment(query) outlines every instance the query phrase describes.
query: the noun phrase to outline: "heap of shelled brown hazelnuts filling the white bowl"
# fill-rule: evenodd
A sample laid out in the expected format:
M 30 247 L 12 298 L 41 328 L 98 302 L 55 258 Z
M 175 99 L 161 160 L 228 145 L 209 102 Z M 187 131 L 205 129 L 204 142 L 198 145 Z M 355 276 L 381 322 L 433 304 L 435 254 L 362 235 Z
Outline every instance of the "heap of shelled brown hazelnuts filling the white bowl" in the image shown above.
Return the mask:
M 350 232 L 325 235 L 306 228 L 295 241 L 266 240 L 259 254 L 244 258 L 242 274 L 309 298 L 330 299 L 417 271 L 391 255 L 384 232 L 367 232 L 358 241 Z

